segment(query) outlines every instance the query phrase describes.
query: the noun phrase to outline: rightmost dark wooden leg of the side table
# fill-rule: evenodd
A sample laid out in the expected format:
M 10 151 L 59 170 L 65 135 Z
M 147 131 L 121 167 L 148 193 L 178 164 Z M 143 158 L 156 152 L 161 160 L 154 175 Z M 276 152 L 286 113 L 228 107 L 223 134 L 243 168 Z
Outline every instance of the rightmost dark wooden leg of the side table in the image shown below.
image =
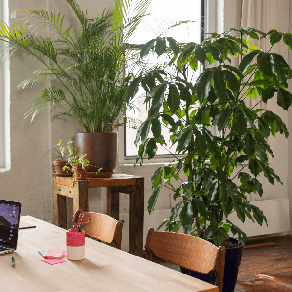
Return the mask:
M 130 192 L 129 253 L 143 256 L 144 178 L 137 178 Z

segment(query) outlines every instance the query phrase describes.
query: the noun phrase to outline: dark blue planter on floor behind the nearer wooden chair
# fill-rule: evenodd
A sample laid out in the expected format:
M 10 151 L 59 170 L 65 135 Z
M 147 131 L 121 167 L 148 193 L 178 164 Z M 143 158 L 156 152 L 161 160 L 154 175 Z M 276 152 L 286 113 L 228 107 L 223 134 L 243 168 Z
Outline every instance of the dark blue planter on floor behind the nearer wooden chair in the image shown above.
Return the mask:
M 237 243 L 238 239 L 229 237 L 229 241 Z M 237 247 L 226 248 L 223 292 L 234 292 L 243 249 L 244 249 L 243 241 L 241 241 L 241 245 Z M 210 274 L 201 274 L 183 267 L 180 267 L 180 269 L 183 274 L 190 275 L 192 277 L 215 285 L 216 277 L 214 272 L 211 272 Z

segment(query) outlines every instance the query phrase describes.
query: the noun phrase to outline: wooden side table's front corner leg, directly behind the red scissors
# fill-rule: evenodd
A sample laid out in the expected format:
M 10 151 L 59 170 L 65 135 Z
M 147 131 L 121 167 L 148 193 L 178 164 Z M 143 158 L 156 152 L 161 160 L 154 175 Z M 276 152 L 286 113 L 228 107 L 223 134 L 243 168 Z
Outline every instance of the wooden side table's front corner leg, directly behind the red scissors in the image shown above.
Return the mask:
M 73 212 L 77 209 L 88 211 L 88 181 L 73 182 Z

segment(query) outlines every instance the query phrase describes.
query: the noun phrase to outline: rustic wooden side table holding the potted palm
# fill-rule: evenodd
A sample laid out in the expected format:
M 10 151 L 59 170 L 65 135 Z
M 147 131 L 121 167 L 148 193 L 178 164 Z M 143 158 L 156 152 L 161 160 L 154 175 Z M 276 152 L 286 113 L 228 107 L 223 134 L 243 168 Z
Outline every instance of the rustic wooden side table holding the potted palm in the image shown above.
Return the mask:
M 71 182 L 70 182 L 71 181 Z M 52 177 L 54 225 L 67 228 L 66 197 L 73 198 L 73 209 L 88 211 L 88 188 L 107 187 L 107 214 L 120 216 L 119 193 L 130 195 L 129 253 L 141 256 L 143 251 L 144 177 L 113 174 L 110 178 L 88 178 L 73 182 L 70 177 Z

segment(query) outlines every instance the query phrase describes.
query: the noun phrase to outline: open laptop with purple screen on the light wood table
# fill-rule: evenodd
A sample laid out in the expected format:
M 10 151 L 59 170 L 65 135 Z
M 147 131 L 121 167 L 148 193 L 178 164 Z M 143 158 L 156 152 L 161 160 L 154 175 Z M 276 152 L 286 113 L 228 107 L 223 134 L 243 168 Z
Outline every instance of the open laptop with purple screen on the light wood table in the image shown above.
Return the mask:
M 0 255 L 16 250 L 21 203 L 0 200 Z

